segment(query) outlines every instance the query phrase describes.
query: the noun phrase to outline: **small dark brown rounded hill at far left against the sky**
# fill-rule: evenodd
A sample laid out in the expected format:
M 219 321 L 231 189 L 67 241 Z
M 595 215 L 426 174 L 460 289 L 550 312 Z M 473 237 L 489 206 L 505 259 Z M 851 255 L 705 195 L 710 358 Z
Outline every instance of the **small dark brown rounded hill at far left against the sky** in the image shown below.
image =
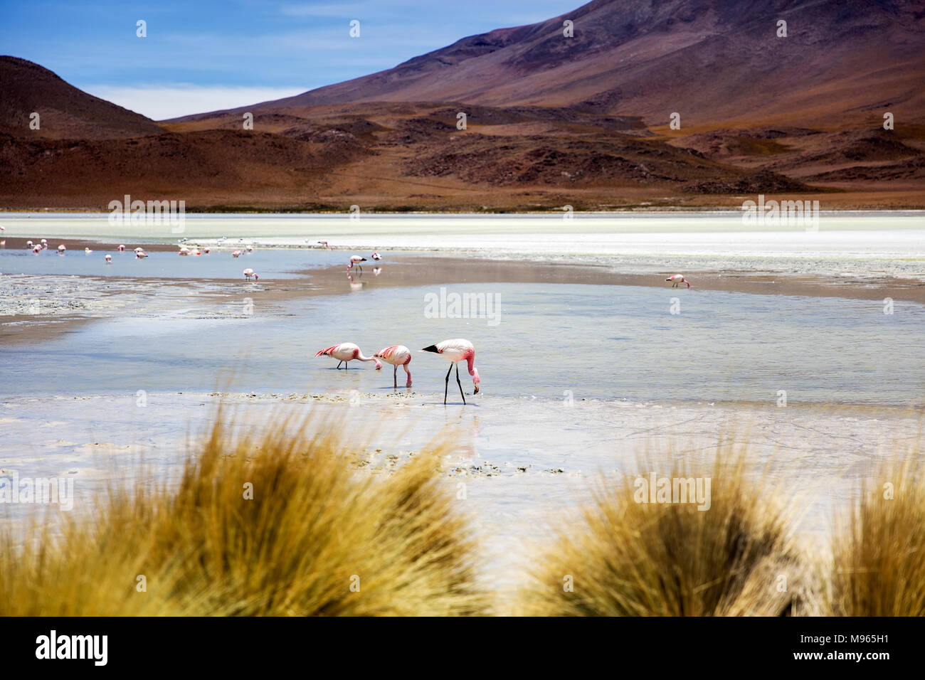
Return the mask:
M 39 114 L 39 130 L 30 115 Z M 69 85 L 47 68 L 0 56 L 0 131 L 35 139 L 102 140 L 158 134 L 150 118 Z

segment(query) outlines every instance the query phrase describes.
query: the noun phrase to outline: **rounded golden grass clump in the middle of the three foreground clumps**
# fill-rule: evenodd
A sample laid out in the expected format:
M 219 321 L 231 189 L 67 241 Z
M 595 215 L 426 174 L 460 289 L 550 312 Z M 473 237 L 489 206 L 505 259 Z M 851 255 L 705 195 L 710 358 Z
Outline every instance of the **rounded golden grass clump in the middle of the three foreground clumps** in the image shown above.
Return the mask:
M 791 615 L 807 607 L 808 574 L 788 518 L 745 456 L 703 469 L 709 509 L 640 502 L 651 476 L 598 488 L 581 522 L 561 525 L 522 594 L 523 613 L 553 616 Z M 671 479 L 696 477 L 674 465 Z M 654 467 L 648 467 L 654 470 Z M 661 475 L 659 476 L 661 477 Z M 658 477 L 657 477 L 658 478 Z M 642 480 L 642 481 L 639 481 Z

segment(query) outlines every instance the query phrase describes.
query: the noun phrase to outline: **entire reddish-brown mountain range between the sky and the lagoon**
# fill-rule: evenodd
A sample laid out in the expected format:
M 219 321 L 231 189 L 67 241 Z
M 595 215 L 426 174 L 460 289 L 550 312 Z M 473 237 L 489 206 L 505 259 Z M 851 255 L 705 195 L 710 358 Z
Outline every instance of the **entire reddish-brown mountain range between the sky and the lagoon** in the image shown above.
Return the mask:
M 159 123 L 2 57 L 0 207 L 105 209 L 131 193 L 189 210 L 612 210 L 765 193 L 921 208 L 923 81 L 920 0 L 595 0 Z

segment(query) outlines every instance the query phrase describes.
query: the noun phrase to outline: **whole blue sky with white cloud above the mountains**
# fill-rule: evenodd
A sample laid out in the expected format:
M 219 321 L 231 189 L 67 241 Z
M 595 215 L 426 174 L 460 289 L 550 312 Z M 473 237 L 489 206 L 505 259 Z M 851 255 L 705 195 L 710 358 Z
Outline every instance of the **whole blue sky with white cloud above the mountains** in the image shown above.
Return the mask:
M 162 119 L 302 93 L 582 0 L 0 0 L 0 54 Z M 136 21 L 147 37 L 136 36 Z M 360 38 L 349 35 L 360 21 Z

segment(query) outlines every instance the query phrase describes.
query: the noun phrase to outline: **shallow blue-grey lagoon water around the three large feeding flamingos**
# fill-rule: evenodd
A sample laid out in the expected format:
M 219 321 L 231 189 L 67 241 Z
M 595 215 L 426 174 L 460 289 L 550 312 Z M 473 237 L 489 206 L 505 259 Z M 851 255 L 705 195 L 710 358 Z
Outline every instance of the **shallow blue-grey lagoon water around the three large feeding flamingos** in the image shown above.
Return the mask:
M 162 255 L 179 266 L 191 259 Z M 138 264 L 157 266 L 150 259 Z M 38 344 L 0 346 L 0 386 L 6 396 L 223 385 L 376 392 L 391 389 L 390 366 L 376 373 L 371 364 L 353 362 L 338 371 L 337 362 L 314 352 L 345 341 L 367 354 L 391 344 L 419 350 L 462 337 L 475 343 L 482 392 L 474 401 L 486 405 L 502 397 L 562 400 L 567 391 L 574 399 L 772 403 L 779 390 L 788 402 L 909 405 L 920 403 L 925 389 L 925 307 L 915 303 L 897 301 L 893 314 L 884 314 L 882 301 L 697 289 L 518 283 L 446 289 L 484 293 L 497 318 L 428 318 L 425 296 L 439 294 L 437 286 L 296 298 L 272 310 L 258 300 L 253 314 L 235 295 L 222 303 L 231 313 L 219 318 L 197 318 L 187 309 L 127 313 Z M 414 391 L 442 402 L 446 367 L 434 355 L 415 354 Z M 464 371 L 461 379 L 471 392 Z

